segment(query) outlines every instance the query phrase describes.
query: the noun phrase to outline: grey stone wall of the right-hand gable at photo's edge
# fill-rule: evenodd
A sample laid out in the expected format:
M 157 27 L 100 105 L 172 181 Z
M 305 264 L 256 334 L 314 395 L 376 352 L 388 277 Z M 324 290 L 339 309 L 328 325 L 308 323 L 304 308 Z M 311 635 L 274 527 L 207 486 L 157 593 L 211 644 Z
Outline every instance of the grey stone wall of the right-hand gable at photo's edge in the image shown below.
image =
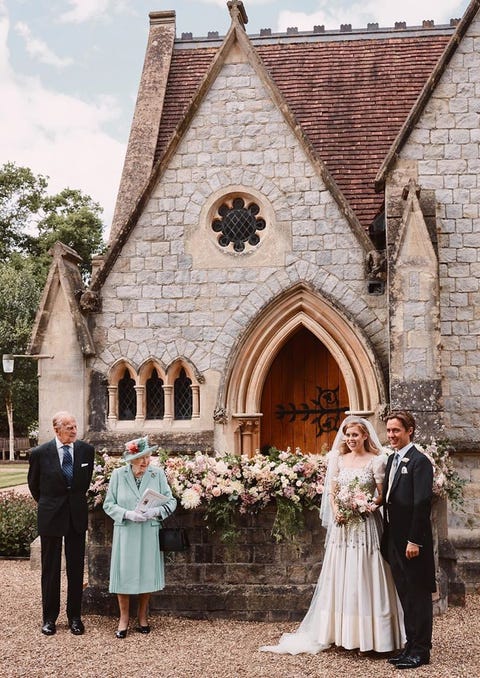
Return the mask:
M 442 395 L 446 435 L 480 442 L 480 20 L 470 25 L 391 177 L 432 190 L 437 205 Z

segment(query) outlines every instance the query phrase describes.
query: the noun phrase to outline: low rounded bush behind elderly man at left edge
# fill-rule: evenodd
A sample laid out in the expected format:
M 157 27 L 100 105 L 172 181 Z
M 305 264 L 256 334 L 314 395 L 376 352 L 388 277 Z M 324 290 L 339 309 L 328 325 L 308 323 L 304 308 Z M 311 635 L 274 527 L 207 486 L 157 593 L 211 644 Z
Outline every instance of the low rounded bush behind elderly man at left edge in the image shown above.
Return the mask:
M 0 494 L 0 555 L 23 557 L 37 536 L 37 505 L 31 497 Z

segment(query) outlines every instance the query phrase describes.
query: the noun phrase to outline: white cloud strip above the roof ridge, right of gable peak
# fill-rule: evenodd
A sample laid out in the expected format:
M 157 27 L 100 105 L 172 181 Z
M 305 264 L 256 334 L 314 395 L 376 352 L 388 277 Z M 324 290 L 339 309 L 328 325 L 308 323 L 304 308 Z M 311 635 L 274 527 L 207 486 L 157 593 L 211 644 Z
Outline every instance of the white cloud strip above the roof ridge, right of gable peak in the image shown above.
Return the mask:
M 352 28 L 366 27 L 369 22 L 380 26 L 393 26 L 396 21 L 405 21 L 407 26 L 421 25 L 423 19 L 433 19 L 437 24 L 448 23 L 452 17 L 461 16 L 468 0 L 364 0 L 353 2 L 343 0 L 333 4 L 330 0 L 318 0 L 318 11 L 281 11 L 278 16 L 278 31 L 296 26 L 300 31 L 311 31 L 315 25 L 324 25 L 327 30 L 336 30 L 340 24 L 351 24 Z M 462 7 L 463 5 L 463 7 Z M 459 10 L 460 6 L 460 10 Z

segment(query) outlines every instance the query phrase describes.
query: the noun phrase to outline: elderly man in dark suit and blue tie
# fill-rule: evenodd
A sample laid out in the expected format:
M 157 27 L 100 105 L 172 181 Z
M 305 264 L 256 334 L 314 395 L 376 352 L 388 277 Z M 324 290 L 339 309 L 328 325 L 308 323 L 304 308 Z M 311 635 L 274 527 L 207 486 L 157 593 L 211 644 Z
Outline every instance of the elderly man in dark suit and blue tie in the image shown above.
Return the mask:
M 86 492 L 93 472 L 94 449 L 77 441 L 77 422 L 69 412 L 53 417 L 55 438 L 30 455 L 28 486 L 38 502 L 38 533 L 42 552 L 42 633 L 53 636 L 60 612 L 62 541 L 67 570 L 67 617 L 71 632 L 81 635 Z

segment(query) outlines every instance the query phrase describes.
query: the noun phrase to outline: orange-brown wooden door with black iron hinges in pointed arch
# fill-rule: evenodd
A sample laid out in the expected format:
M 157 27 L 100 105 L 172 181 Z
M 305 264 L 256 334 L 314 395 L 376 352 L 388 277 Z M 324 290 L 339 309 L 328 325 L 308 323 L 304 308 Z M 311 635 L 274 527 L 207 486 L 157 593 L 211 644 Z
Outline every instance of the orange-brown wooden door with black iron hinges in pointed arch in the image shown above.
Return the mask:
M 299 329 L 272 363 L 262 393 L 261 448 L 329 449 L 348 410 L 343 375 L 309 330 Z

